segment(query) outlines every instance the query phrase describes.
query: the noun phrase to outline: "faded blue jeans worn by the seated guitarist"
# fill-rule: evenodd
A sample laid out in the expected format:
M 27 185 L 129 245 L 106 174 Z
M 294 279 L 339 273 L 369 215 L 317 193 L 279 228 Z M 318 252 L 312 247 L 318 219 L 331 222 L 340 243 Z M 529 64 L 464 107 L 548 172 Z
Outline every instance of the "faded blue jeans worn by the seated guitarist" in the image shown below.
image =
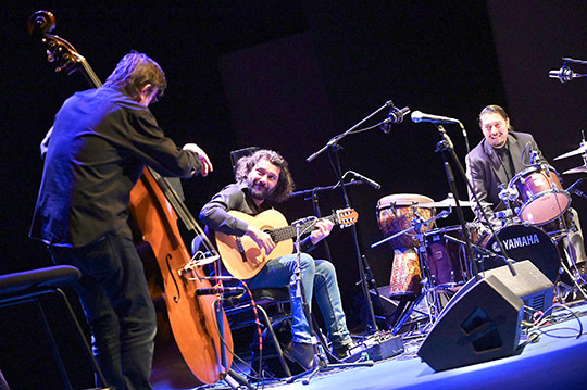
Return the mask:
M 340 291 L 338 289 L 334 265 L 325 260 L 314 260 L 307 253 L 301 254 L 300 265 L 305 301 L 311 309 L 312 294 L 316 297 L 316 302 L 324 317 L 326 331 L 333 343 L 333 348 L 338 349 L 349 344 L 351 337 L 347 328 L 345 312 L 342 312 Z M 285 287 L 289 285 L 291 314 L 294 317 L 294 324 L 291 326 L 294 341 L 312 343 L 310 326 L 303 312 L 303 302 L 301 297 L 296 297 L 296 254 L 270 260 L 259 274 L 248 280 L 248 285 L 251 289 Z

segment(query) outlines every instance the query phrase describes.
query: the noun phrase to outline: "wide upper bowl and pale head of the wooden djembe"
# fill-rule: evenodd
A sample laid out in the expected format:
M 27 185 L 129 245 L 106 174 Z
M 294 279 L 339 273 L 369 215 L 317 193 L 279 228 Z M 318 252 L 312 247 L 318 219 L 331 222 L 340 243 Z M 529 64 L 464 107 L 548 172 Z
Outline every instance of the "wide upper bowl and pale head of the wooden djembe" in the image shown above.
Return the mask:
M 397 193 L 379 199 L 377 202 L 377 223 L 385 237 L 391 237 L 412 227 L 417 217 L 426 221 L 435 215 L 435 209 L 417 207 L 417 203 L 432 203 L 433 199 L 415 193 Z M 422 231 L 428 231 L 434 222 L 423 226 Z M 392 248 L 417 247 L 417 232 L 412 230 L 389 241 Z

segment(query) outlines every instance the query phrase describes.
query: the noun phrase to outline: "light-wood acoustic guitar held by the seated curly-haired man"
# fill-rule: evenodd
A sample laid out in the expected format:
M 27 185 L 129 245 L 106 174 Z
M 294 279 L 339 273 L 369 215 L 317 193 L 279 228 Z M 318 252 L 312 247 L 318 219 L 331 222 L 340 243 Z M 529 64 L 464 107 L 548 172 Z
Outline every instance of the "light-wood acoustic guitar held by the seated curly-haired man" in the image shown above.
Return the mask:
M 232 216 L 245 221 L 271 236 L 276 243 L 267 255 L 265 250 L 259 248 L 250 237 L 232 236 L 216 232 L 216 246 L 222 262 L 226 269 L 239 279 L 249 279 L 255 276 L 272 259 L 294 253 L 294 238 L 297 236 L 297 226 L 288 225 L 285 216 L 276 210 L 267 210 L 255 216 L 238 211 L 229 211 Z M 321 218 L 329 219 L 340 228 L 351 226 L 359 219 L 359 214 L 352 209 L 335 211 L 330 216 Z M 301 224 L 300 231 L 314 230 L 315 219 L 309 219 Z

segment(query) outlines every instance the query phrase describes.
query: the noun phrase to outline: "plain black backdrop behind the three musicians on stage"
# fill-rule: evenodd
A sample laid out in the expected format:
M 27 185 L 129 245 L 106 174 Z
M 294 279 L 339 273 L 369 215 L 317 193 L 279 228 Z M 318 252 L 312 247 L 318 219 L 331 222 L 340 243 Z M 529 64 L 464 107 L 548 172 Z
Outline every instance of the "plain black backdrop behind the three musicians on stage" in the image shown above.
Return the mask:
M 578 148 L 587 119 L 585 81 L 563 85 L 547 77 L 563 55 L 587 58 L 587 5 L 578 0 L 20 1 L 2 7 L 0 27 L 2 273 L 51 265 L 43 246 L 27 238 L 42 167 L 38 143 L 62 101 L 87 87 L 79 75 L 55 74 L 41 46 L 27 36 L 28 16 L 41 9 L 53 12 L 53 33 L 70 40 L 102 79 L 132 49 L 165 70 L 170 86 L 152 111 L 178 144 L 197 142 L 214 163 L 208 178 L 184 181 L 193 214 L 233 180 L 229 151 L 247 146 L 282 152 L 299 190 L 334 184 L 326 153 L 311 163 L 305 159 L 387 100 L 459 118 L 472 148 L 482 138 L 478 112 L 503 105 L 514 127 L 533 133 L 551 163 Z M 587 73 L 580 65 L 572 68 Z M 386 111 L 365 126 L 383 121 Z M 461 131 L 446 128 L 464 161 Z M 389 134 L 375 128 L 340 142 L 342 171 L 382 184 L 380 190 L 349 190 L 360 214 L 360 246 L 380 286 L 388 284 L 392 253 L 386 246 L 370 249 L 382 238 L 375 205 L 391 193 L 447 197 L 442 158 L 434 152 L 438 139 L 433 125 L 405 121 Z M 563 172 L 580 164 L 577 156 L 553 165 Z M 565 176 L 564 186 L 576 176 Z M 457 180 L 465 196 L 462 178 Z M 344 201 L 339 192 L 323 193 L 320 205 L 328 213 Z M 573 205 L 585 214 L 583 200 L 574 198 Z M 296 219 L 310 215 L 312 204 L 295 198 L 283 211 Z M 451 215 L 444 224 L 457 223 Z M 350 239 L 340 231 L 328 242 L 349 323 L 360 327 Z

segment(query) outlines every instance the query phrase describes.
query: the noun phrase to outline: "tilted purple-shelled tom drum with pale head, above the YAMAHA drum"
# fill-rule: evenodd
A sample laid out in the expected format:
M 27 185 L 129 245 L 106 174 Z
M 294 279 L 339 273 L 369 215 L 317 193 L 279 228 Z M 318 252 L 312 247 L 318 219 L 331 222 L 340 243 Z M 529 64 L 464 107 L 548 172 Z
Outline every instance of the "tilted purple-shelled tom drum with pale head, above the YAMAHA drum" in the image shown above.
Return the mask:
M 517 216 L 532 225 L 544 225 L 569 209 L 571 196 L 563 190 L 559 174 L 550 165 L 534 165 L 511 179 L 508 187 L 520 193 Z

